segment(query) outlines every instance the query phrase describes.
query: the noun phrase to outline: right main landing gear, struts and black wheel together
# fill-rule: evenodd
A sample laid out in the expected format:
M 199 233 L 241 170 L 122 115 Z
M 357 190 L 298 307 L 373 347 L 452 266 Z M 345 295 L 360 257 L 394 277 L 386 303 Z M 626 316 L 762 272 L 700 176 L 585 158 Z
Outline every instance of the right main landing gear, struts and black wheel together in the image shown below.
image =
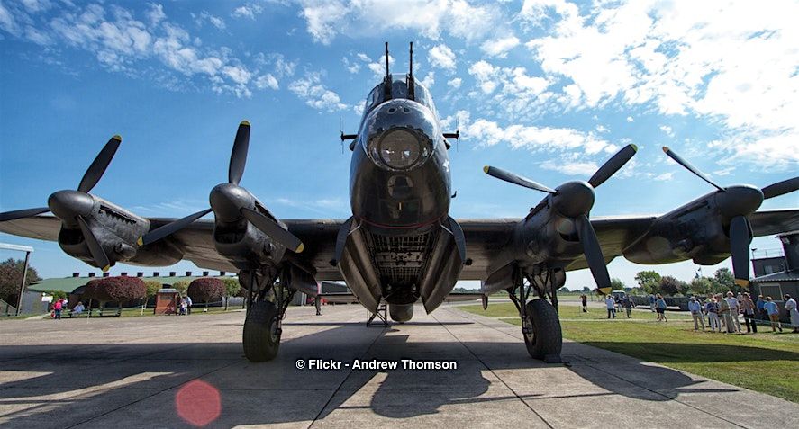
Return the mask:
M 514 270 L 513 287 L 507 292 L 522 317 L 524 344 L 534 359 L 561 362 L 563 335 L 558 319 L 557 290 L 565 282 L 566 273 L 562 269 L 544 269 L 531 275 Z M 532 290 L 538 294 L 538 299 L 528 301 Z

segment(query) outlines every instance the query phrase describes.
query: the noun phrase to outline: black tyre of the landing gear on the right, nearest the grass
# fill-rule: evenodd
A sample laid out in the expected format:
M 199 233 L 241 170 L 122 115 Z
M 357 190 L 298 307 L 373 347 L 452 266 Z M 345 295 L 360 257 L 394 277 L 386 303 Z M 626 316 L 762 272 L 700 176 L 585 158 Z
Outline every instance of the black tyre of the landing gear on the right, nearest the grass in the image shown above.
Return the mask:
M 545 299 L 533 299 L 525 308 L 527 314 L 522 318 L 522 333 L 527 353 L 533 359 L 547 363 L 560 362 L 563 335 L 558 312 Z

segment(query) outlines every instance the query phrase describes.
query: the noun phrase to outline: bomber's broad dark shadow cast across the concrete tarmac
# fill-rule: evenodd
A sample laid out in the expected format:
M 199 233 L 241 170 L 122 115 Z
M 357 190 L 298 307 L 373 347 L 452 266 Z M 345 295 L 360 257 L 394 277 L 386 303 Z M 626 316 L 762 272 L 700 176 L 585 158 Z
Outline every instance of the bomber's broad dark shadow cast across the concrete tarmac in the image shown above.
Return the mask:
M 339 325 L 286 340 L 277 359 L 265 363 L 247 362 L 238 342 L 7 345 L 0 351 L 0 374 L 6 374 L 0 379 L 0 418 L 23 427 L 75 425 L 97 416 L 91 424 L 158 418 L 166 426 L 181 425 L 174 412 L 177 391 L 195 379 L 218 389 L 222 414 L 216 423 L 225 426 L 307 422 L 337 409 L 410 417 L 436 414 L 447 405 L 499 400 L 524 399 L 535 407 L 539 398 L 622 395 L 666 401 L 688 392 L 737 391 L 703 389 L 697 386 L 702 381 L 682 372 L 618 358 L 614 353 L 596 353 L 585 344 L 564 344 L 564 357 L 570 361 L 564 367 L 531 360 L 524 345 L 516 341 L 461 342 L 453 337 L 452 341 L 426 342 L 417 337 L 408 342 L 402 326 Z M 723 359 L 723 353 L 710 347 L 709 353 L 695 353 L 699 362 L 706 362 L 707 355 Z M 740 352 L 740 347 L 736 350 Z M 799 359 L 799 353 L 749 352 L 760 353 L 763 360 Z M 295 368 L 297 359 L 311 358 L 451 360 L 459 367 L 455 371 Z M 502 371 L 514 369 L 524 371 Z M 502 381 L 496 379 L 498 372 Z M 564 386 L 577 383 L 577 389 L 558 388 L 561 380 Z M 52 416 L 64 419 L 54 421 Z

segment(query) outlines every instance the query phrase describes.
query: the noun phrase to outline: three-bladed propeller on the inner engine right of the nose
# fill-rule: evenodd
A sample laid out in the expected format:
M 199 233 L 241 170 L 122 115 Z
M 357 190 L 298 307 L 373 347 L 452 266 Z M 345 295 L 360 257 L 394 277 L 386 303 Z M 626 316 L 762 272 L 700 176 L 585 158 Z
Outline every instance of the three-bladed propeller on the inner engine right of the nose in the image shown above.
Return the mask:
M 552 208 L 574 222 L 577 237 L 579 237 L 580 244 L 583 246 L 583 254 L 586 255 L 586 262 L 591 270 L 591 275 L 594 276 L 599 290 L 607 294 L 613 289 L 611 287 L 611 279 L 607 272 L 607 265 L 604 263 L 602 247 L 596 238 L 596 232 L 591 225 L 591 221 L 588 220 L 588 212 L 594 206 L 594 189 L 611 178 L 613 174 L 616 174 L 622 166 L 630 161 L 636 151 L 638 151 L 638 147 L 635 145 L 622 147 L 622 150 L 596 170 L 596 173 L 588 179 L 588 182 L 567 182 L 554 190 L 526 177 L 493 166 L 486 165 L 483 171 L 505 182 L 549 193 Z

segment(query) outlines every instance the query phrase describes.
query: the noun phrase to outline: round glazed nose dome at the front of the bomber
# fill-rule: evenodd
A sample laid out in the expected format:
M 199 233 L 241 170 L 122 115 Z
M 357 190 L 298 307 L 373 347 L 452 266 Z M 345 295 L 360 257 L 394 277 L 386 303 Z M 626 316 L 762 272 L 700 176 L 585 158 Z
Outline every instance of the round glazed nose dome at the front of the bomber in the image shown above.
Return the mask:
M 437 126 L 426 107 L 395 100 L 378 107 L 368 121 L 367 153 L 389 170 L 422 165 L 433 151 Z

